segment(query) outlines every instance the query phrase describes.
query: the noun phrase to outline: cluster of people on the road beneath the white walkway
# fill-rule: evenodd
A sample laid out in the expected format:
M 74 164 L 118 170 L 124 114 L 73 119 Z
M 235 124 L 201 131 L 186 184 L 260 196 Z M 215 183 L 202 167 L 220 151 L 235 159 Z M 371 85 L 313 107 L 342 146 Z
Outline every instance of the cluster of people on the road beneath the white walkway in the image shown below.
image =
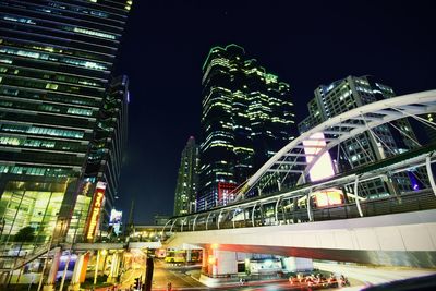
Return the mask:
M 323 274 L 311 274 L 307 276 L 303 276 L 302 274 L 296 275 L 295 277 L 289 277 L 289 282 L 291 284 L 299 284 L 299 286 L 307 286 L 312 288 L 339 288 L 350 286 L 350 281 L 343 276 L 335 276 L 330 274 L 327 278 Z

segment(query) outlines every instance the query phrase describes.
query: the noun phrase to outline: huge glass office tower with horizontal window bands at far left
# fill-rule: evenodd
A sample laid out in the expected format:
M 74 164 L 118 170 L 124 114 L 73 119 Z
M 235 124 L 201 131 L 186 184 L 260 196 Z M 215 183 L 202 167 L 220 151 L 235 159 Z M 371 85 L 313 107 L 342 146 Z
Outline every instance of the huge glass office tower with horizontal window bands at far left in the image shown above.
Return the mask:
M 118 125 L 106 118 L 117 119 L 107 114 L 120 107 L 109 82 L 131 3 L 0 2 L 1 240 L 26 226 L 39 241 L 69 228 L 94 235 L 112 182 L 111 170 L 88 162 L 119 167 L 125 117 Z M 105 126 L 119 128 L 105 135 Z

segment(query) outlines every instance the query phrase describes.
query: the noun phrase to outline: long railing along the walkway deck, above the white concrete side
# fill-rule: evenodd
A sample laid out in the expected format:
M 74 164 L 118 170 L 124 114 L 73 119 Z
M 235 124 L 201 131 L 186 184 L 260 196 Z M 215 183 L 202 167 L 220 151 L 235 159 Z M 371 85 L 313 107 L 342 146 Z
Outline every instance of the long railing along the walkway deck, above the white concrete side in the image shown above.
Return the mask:
M 269 203 L 269 206 L 272 206 L 275 203 Z M 268 205 L 263 205 L 261 207 L 266 208 L 267 206 Z M 364 217 L 436 209 L 436 196 L 432 190 L 424 190 L 420 192 L 403 193 L 402 195 L 398 196 L 390 195 L 377 199 L 361 201 L 360 206 Z M 253 207 L 255 207 L 254 210 Z M 203 231 L 306 223 L 361 217 L 355 203 L 318 208 L 311 206 L 312 209 L 310 210 L 304 206 L 288 210 L 286 210 L 283 207 L 277 207 L 277 214 L 270 211 L 267 214 L 266 211 L 257 210 L 256 206 L 253 207 L 247 207 L 241 210 L 239 217 L 244 217 L 243 219 L 235 219 L 235 216 L 230 216 L 230 219 L 220 221 L 218 223 L 217 219 L 220 217 L 219 214 L 207 216 L 204 215 L 201 218 L 195 218 L 195 216 L 193 216 L 194 218 L 192 219 L 174 220 L 174 223 L 171 226 L 171 230 L 172 232 Z M 194 219 L 195 226 L 193 223 Z

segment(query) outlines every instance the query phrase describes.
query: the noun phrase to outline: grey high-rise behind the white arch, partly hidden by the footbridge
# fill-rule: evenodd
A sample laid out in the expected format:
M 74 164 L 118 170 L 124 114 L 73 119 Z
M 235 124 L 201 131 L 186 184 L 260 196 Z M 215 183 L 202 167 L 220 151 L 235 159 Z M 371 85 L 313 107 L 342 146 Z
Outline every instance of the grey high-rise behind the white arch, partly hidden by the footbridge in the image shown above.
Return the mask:
M 308 117 L 299 123 L 299 131 L 303 133 L 315 125 L 351 109 L 377 100 L 395 97 L 393 89 L 377 82 L 371 76 L 348 76 L 336 81 L 328 86 L 320 85 L 315 89 L 315 98 L 307 104 Z M 416 140 L 407 119 L 392 123 L 395 128 L 402 129 L 409 136 Z M 341 143 L 339 157 L 331 153 L 341 171 L 380 160 L 416 147 L 410 138 L 405 138 L 392 125 L 380 125 L 373 129 L 373 133 L 365 132 Z M 378 179 L 361 183 L 362 195 L 370 198 L 386 196 L 393 193 L 411 191 L 412 181 L 425 181 L 419 172 L 393 174 L 386 179 Z

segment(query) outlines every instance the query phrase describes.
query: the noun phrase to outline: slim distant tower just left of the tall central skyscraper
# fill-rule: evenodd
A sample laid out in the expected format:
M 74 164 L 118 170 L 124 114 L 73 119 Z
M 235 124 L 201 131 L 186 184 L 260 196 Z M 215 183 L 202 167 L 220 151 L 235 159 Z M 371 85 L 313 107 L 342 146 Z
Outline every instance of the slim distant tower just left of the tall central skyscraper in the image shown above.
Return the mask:
M 178 181 L 175 185 L 174 215 L 185 215 L 196 210 L 198 190 L 198 145 L 194 136 L 187 140 L 180 159 Z

